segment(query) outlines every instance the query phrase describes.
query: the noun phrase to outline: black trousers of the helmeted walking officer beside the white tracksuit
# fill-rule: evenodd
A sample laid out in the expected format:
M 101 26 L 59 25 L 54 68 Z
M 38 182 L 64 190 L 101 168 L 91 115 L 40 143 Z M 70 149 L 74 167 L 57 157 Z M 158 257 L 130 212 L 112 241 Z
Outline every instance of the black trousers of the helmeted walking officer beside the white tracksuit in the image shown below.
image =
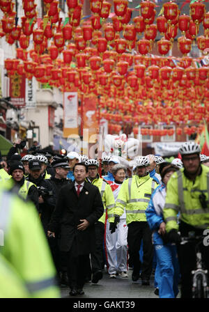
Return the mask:
M 146 221 L 134 221 L 128 224 L 127 244 L 132 264 L 134 266 L 133 274 L 139 275 L 141 269 L 141 278 L 150 279 L 153 265 L 153 243 L 152 233 Z M 143 263 L 139 260 L 139 250 L 143 240 Z

